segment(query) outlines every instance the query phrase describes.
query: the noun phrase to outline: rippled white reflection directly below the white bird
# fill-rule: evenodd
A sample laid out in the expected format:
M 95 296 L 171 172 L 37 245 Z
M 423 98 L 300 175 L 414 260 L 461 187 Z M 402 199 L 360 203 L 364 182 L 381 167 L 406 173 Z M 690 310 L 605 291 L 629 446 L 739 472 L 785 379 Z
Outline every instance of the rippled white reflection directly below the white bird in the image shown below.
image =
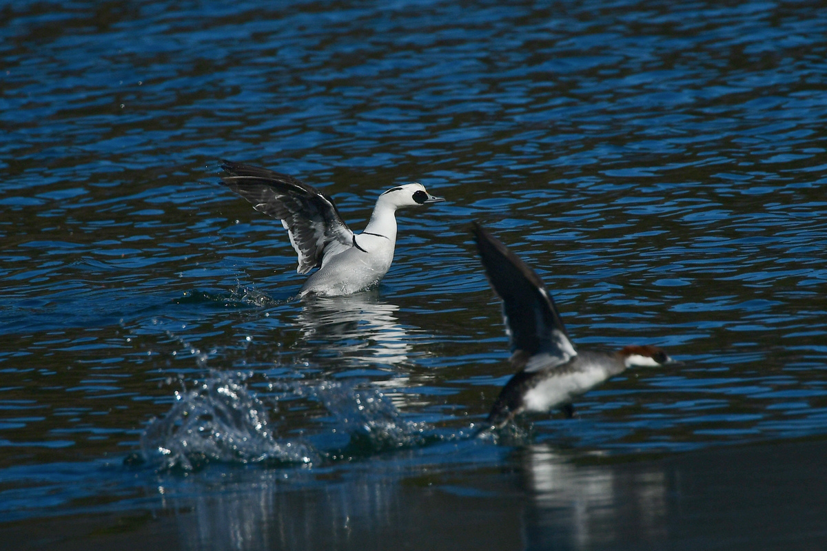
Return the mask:
M 398 310 L 373 290 L 348 297 L 313 297 L 302 304 L 297 321 L 304 340 L 324 340 L 340 359 L 394 365 L 407 360 L 411 348 L 408 332 L 394 316 Z

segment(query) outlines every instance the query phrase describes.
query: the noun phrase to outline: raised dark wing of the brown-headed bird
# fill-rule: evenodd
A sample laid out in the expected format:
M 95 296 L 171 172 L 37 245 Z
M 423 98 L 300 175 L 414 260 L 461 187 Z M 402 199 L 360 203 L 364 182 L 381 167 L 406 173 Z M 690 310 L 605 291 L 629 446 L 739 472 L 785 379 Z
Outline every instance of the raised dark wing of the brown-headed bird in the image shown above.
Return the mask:
M 512 362 L 532 372 L 566 363 L 576 356 L 543 280 L 476 222 L 472 231 L 491 287 L 503 301 Z

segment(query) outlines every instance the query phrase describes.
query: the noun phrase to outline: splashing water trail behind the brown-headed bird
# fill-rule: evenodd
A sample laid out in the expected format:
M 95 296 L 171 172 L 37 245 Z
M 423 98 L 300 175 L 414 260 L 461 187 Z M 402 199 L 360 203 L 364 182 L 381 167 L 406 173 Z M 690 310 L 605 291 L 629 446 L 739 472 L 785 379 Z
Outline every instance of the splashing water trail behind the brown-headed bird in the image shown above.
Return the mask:
M 271 417 L 279 398 L 258 397 L 247 386 L 251 375 L 213 370 L 193 387 L 174 392 L 170 411 L 150 421 L 141 434 L 140 452 L 127 463 L 183 472 L 216 462 L 312 466 L 446 439 L 431 425 L 404 420 L 379 390 L 341 382 L 279 386 L 286 389 L 284 396 L 322 405 L 333 418 L 325 430 L 349 436 L 343 449 L 319 449 L 307 439 L 280 437 L 280 424 Z

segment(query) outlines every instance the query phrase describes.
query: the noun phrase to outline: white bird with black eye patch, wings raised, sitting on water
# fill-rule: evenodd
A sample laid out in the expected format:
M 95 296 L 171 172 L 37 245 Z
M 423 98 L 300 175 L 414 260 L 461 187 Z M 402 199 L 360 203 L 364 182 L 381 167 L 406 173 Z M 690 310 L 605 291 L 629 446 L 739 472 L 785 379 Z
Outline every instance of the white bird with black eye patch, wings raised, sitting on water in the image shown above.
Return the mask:
M 299 255 L 297 271 L 319 268 L 299 296 L 349 295 L 379 283 L 394 260 L 396 209 L 445 201 L 421 183 L 390 188 L 376 201 L 365 230 L 355 234 L 330 197 L 296 178 L 230 161 L 223 161 L 222 169 L 227 188 L 281 221 Z

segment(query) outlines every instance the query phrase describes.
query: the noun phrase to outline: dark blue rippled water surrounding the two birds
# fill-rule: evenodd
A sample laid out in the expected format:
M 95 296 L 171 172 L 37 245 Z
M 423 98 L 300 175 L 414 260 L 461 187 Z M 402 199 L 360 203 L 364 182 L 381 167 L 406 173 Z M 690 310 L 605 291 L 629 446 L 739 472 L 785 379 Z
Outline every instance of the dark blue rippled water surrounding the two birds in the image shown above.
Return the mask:
M 767 465 L 827 435 L 825 37 L 816 2 L 3 7 L 7 541 L 688 549 L 680 511 L 764 534 L 768 496 L 810 526 L 823 504 Z M 379 289 L 295 301 L 287 235 L 224 158 L 357 230 L 395 184 L 448 202 L 400 211 Z M 684 364 L 469 438 L 511 373 L 471 220 L 577 345 Z M 698 488 L 745 466 L 692 501 L 705 461 Z

